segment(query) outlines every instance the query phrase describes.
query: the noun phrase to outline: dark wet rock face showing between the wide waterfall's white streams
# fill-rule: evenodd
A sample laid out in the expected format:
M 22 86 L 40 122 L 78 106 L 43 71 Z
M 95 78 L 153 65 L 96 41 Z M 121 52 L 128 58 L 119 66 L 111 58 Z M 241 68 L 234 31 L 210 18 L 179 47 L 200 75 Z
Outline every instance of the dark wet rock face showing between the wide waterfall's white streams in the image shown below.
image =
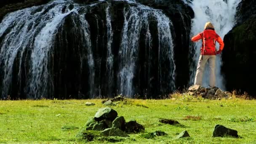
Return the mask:
M 24 3 L 17 3 L 11 6 L 5 5 L 3 7 L 5 10 L 0 11 L 0 19 L 1 16 L 3 17 L 6 13 L 11 11 L 47 2 L 47 0 L 25 0 Z M 3 80 L 6 78 L 4 76 L 5 66 L 4 64 L 0 64 L 0 81 L 5 81 L 9 84 L 9 86 L 6 86 L 8 88 L 5 88 L 5 91 L 0 93 L 3 99 L 6 99 L 7 95 L 10 95 L 12 99 L 40 99 L 41 97 L 39 96 L 42 95 L 49 99 L 52 98 L 52 96 L 58 99 L 86 99 L 99 95 L 111 97 L 121 92 L 121 84 L 119 83 L 121 80 L 118 75 L 121 71 L 120 67 L 124 67 L 123 65 L 125 64 L 120 62 L 121 56 L 119 52 L 123 40 L 122 31 L 125 18 L 128 19 L 131 15 L 131 12 L 125 12 L 128 11 L 130 7 L 136 7 L 138 4 L 115 0 L 107 0 L 104 2 L 99 2 L 98 0 L 76 0 L 75 2 L 80 3 L 80 5 L 88 5 L 91 3 L 97 3 L 97 5 L 87 7 L 86 10 L 85 8 L 81 8 L 78 13 L 72 11 L 73 8 L 77 8 L 75 3 L 70 2 L 69 4 L 68 2 L 68 4 L 62 8 L 62 13 L 67 13 L 67 11 L 72 12 L 61 20 L 61 27 L 57 27 L 54 30 L 54 40 L 50 48 L 51 51 L 48 52 L 48 58 L 47 60 L 45 59 L 45 61 L 47 61 L 45 63 L 47 64 L 43 67 L 43 71 L 47 71 L 47 74 L 44 75 L 46 78 L 42 75 L 35 78 L 38 79 L 39 83 L 44 81 L 44 83 L 40 83 L 40 85 L 43 85 L 42 87 L 40 85 L 35 86 L 35 93 L 38 93 L 38 96 L 35 96 L 34 92 L 31 92 L 33 88 L 28 86 L 29 79 L 33 79 L 31 75 L 35 73 L 30 72 L 32 68 L 31 55 L 33 50 L 31 45 L 36 43 L 31 39 L 31 41 L 29 41 L 31 45 L 24 46 L 23 56 L 21 56 L 21 51 L 19 51 L 16 58 L 13 58 L 12 76 L 10 79 Z M 149 43 L 147 42 L 147 38 L 149 37 L 146 29 L 147 26 L 142 26 L 139 32 L 139 47 L 136 52 L 138 53 L 138 59 L 134 60 L 136 61 L 136 67 L 134 68 L 136 75 L 134 75 L 130 82 L 132 83 L 134 93 L 141 96 L 147 94 L 147 96 L 154 98 L 154 96 L 168 94 L 174 91 L 174 86 L 169 85 L 170 82 L 174 83 L 174 79 L 176 88 L 187 85 L 188 83 L 189 62 L 184 55 L 188 53 L 190 41 L 189 31 L 193 11 L 181 0 L 161 0 L 161 2 L 139 0 L 139 3 L 150 6 L 151 8 L 163 10 L 164 14 L 161 12 L 160 15 L 168 16 L 168 19 L 170 19 L 173 24 L 170 25 L 171 34 L 168 35 L 172 35 L 172 41 L 175 43 L 173 44 L 174 53 L 171 52 L 174 55 L 173 61 L 175 61 L 176 65 L 176 75 L 174 78 L 168 73 L 173 69 L 174 64 L 171 64 L 170 60 L 165 59 L 165 56 L 163 56 L 166 54 L 166 51 L 159 53 L 159 49 L 161 50 L 163 47 L 167 47 L 170 43 L 165 43 L 165 45 L 160 44 L 160 36 L 158 34 L 159 26 L 157 25 L 159 22 L 159 20 L 157 20 L 158 15 L 149 14 L 147 17 L 148 29 L 152 39 L 150 45 L 152 48 L 149 48 Z M 41 12 L 44 6 L 45 5 L 37 8 L 37 10 L 31 13 L 35 14 Z M 55 6 L 55 4 L 49 6 L 49 8 L 44 10 L 42 15 L 48 13 L 48 11 Z M 109 13 L 107 13 L 107 9 Z M 141 13 L 138 12 L 138 14 Z M 110 21 L 107 21 L 107 15 L 111 17 Z M 86 27 L 88 28 L 89 36 L 85 35 L 85 32 L 83 32 L 83 26 L 85 25 L 81 23 L 81 17 L 83 16 L 85 18 L 82 21 L 86 20 L 88 22 Z M 40 20 L 40 18 L 37 18 L 38 23 L 40 23 Z M 112 43 L 109 43 L 109 35 L 111 35 L 111 33 L 109 33 L 109 24 L 111 25 L 113 34 Z M 132 24 L 131 21 L 128 23 L 129 29 Z M 43 24 L 42 27 L 44 25 L 45 24 Z M 0 37 L 0 46 L 10 30 L 11 28 Z M 40 33 L 40 30 L 41 29 L 37 29 L 36 33 Z M 165 38 L 163 38 L 163 40 L 164 39 Z M 91 50 L 89 50 L 89 45 L 91 45 Z M 109 45 L 113 55 L 111 59 L 111 72 L 109 72 L 108 66 Z M 88 63 L 88 61 L 91 61 L 90 56 L 93 58 L 93 62 Z M 168 55 L 168 57 L 170 56 Z M 159 61 L 159 59 L 161 59 L 161 61 Z M 167 69 L 161 69 L 161 67 Z M 113 77 L 109 78 L 108 73 Z M 29 85 L 35 84 L 29 83 Z M 0 83 L 0 89 L 4 86 L 5 84 Z M 117 93 L 117 90 L 119 93 Z

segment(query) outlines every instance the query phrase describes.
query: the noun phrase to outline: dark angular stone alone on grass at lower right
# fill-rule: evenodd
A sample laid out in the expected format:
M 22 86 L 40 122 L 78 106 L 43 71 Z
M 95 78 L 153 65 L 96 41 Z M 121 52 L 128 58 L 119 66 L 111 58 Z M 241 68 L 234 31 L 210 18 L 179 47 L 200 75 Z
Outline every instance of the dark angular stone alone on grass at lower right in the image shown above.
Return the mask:
M 237 138 L 237 131 L 226 128 L 223 125 L 215 125 L 213 129 L 213 136 L 212 137 L 226 137 L 226 136 L 231 136 Z

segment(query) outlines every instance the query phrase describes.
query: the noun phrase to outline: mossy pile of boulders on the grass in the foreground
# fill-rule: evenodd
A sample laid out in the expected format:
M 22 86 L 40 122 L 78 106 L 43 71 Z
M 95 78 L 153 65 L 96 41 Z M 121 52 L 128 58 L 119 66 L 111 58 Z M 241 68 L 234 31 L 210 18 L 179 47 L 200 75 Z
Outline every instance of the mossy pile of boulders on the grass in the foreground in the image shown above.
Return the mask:
M 101 131 L 101 136 L 120 137 L 129 137 L 127 133 L 145 130 L 144 126 L 136 120 L 125 122 L 123 116 L 117 116 L 117 112 L 109 107 L 99 109 L 94 117 L 86 122 L 85 127 L 86 131 Z

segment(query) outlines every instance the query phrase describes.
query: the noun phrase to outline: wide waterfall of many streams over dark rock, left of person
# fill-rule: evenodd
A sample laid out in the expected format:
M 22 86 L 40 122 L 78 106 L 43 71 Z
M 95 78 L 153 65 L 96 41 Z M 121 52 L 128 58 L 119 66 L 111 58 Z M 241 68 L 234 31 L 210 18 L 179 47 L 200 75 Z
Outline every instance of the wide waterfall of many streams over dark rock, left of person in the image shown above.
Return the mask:
M 6 15 L 0 23 L 2 99 L 174 91 L 171 20 L 135 0 L 114 1 L 54 0 Z M 117 25 L 112 7 L 120 4 Z

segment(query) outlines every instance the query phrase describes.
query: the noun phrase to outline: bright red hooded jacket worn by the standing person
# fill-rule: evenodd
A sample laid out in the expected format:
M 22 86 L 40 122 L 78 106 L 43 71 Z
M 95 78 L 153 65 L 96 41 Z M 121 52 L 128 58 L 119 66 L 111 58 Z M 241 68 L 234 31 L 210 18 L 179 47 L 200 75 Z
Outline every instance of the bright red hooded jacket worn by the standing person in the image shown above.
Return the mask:
M 196 42 L 198 40 L 202 40 L 201 47 L 201 55 L 216 55 L 216 53 L 220 53 L 224 48 L 224 43 L 216 34 L 214 29 L 205 29 L 203 32 L 200 32 L 198 35 L 192 37 L 192 41 Z M 215 43 L 216 41 L 219 43 L 219 51 L 216 51 Z

